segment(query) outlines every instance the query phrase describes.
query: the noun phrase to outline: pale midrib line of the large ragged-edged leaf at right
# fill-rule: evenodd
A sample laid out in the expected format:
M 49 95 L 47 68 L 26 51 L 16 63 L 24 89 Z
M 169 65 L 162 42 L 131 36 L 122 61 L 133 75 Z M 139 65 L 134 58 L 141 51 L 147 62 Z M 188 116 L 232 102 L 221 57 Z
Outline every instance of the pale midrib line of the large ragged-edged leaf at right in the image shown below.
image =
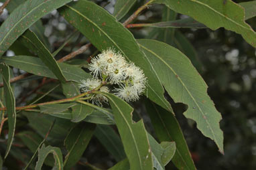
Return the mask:
M 145 48 L 145 46 L 142 46 L 141 44 L 139 44 L 139 46 L 141 46 L 141 48 L 143 48 L 143 49 L 147 50 L 148 52 L 150 52 L 151 54 L 153 54 L 153 56 L 159 58 L 159 60 L 162 61 L 168 68 L 170 68 L 170 70 L 172 70 L 172 72 L 173 72 L 175 75 L 178 75 L 178 74 L 176 74 L 176 72 L 172 69 L 171 66 L 169 66 L 164 60 L 162 60 L 162 58 L 161 58 L 160 56 L 158 56 L 157 54 L 155 54 L 153 51 L 151 51 L 151 50 Z M 188 90 L 188 88 L 186 87 L 186 85 L 184 84 L 184 82 L 180 79 L 179 76 L 178 76 L 177 79 L 180 80 L 180 83 L 181 83 L 182 86 L 185 88 L 185 90 L 188 92 L 189 96 L 192 98 L 192 100 L 194 101 L 194 103 L 196 104 L 196 106 L 198 107 L 198 109 L 200 110 L 200 113 L 201 113 L 203 116 L 205 116 L 204 112 L 202 112 L 202 109 L 200 108 L 200 106 L 198 105 L 198 103 L 197 103 L 196 100 L 194 99 L 194 96 L 192 96 L 192 94 L 190 93 L 190 91 Z M 210 126 L 210 123 L 208 122 L 207 119 L 204 119 L 204 120 L 206 121 L 206 123 L 207 123 L 208 126 L 209 126 L 209 129 L 210 129 L 210 131 L 211 131 L 211 133 L 212 133 L 212 135 L 213 135 L 214 141 L 217 141 L 217 140 L 216 140 L 216 137 L 215 137 L 215 135 L 214 135 L 214 131 L 213 131 L 213 129 L 212 129 L 212 126 Z M 217 145 L 218 145 L 218 144 L 217 144 Z

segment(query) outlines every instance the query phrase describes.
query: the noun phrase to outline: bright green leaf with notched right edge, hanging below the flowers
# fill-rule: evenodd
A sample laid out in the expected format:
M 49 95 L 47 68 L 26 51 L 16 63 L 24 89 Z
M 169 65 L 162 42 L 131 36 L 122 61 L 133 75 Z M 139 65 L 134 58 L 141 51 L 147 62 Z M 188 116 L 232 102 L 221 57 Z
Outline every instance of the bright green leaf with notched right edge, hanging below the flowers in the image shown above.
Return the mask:
M 143 121 L 133 122 L 133 108 L 121 98 L 114 94 L 101 94 L 109 98 L 131 170 L 153 170 L 151 149 Z

